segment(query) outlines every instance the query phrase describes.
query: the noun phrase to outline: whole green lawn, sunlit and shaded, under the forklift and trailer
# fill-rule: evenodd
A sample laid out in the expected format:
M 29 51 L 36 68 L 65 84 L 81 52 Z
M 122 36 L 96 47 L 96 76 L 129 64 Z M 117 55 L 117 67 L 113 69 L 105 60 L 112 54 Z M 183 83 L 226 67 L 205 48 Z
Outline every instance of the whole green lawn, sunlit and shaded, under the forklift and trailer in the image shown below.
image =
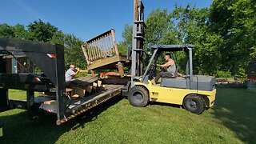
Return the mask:
M 24 92 L 10 91 L 10 97 Z M 0 113 L 5 123 L 0 143 L 254 143 L 256 94 L 218 88 L 216 105 L 196 115 L 178 106 L 153 103 L 130 106 L 114 98 L 61 126 L 54 115 L 37 120 L 26 110 Z

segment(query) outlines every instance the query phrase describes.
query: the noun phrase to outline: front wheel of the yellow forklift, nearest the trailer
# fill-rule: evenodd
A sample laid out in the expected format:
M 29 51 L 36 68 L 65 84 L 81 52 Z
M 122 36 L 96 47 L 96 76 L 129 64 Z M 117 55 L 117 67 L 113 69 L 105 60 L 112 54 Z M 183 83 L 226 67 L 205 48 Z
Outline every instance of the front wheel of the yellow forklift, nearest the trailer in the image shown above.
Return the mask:
M 134 86 L 128 93 L 131 106 L 143 107 L 149 102 L 149 94 L 142 86 Z

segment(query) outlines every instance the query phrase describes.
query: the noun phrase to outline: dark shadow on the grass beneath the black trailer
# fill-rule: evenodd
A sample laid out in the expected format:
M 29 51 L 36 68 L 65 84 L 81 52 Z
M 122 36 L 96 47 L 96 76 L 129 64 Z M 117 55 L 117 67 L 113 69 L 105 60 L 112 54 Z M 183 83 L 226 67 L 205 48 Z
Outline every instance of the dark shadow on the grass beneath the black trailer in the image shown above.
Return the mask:
M 26 110 L 12 110 L 13 115 L 8 115 L 7 111 L 5 116 L 0 117 L 4 122 L 4 136 L 0 138 L 0 143 L 55 143 L 62 134 L 86 126 L 87 122 L 97 119 L 98 114 L 114 106 L 122 98 L 111 98 L 60 126 L 56 125 L 55 115 L 41 114 L 38 119 L 30 120 Z

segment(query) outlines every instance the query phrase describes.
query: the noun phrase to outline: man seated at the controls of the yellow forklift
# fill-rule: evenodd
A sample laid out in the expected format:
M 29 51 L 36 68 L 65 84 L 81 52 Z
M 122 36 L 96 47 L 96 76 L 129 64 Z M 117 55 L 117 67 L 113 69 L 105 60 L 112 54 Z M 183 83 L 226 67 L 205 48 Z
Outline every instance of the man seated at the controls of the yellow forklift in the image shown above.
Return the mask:
M 165 59 L 166 59 L 165 64 L 162 64 L 162 65 L 157 64 L 157 66 L 166 67 L 167 71 L 162 71 L 158 73 L 157 76 L 151 81 L 153 85 L 155 85 L 156 82 L 158 82 L 159 78 L 174 77 L 174 74 L 176 71 L 176 65 L 175 65 L 174 59 L 171 57 L 170 53 L 166 54 Z

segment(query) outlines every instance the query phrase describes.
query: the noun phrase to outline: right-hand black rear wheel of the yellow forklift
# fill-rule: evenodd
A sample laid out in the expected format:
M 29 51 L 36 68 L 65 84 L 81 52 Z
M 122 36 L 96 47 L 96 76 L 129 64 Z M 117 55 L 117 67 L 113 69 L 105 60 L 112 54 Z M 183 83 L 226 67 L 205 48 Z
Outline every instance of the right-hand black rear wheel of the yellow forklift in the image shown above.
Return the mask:
M 183 107 L 194 114 L 201 114 L 206 110 L 206 102 L 199 95 L 188 95 L 183 100 Z

